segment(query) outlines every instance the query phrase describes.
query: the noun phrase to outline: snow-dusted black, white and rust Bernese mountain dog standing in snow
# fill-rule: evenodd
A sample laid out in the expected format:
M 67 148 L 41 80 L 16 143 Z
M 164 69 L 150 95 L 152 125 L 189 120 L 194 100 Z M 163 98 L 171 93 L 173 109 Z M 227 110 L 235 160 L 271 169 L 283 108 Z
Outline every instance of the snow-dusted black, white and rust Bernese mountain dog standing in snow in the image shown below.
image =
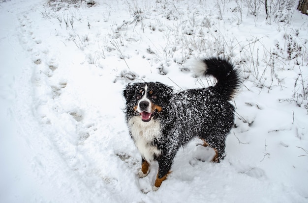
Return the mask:
M 174 93 L 160 82 L 141 82 L 129 83 L 123 90 L 129 134 L 141 154 L 139 178 L 149 174 L 153 161 L 158 162 L 154 191 L 170 173 L 179 148 L 194 137 L 215 149 L 213 161 L 225 156 L 225 138 L 234 125 L 229 100 L 240 86 L 239 73 L 216 57 L 199 60 L 194 70 L 196 76 L 214 76 L 216 84 Z

